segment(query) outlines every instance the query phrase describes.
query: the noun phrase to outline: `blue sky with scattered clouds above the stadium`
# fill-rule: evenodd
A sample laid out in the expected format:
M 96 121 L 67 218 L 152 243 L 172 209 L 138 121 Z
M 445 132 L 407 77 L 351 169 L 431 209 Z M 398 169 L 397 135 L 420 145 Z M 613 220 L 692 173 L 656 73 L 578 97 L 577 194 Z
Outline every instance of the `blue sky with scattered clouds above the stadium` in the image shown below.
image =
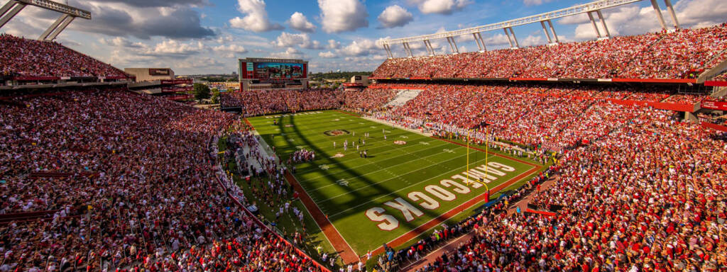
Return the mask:
M 65 2 L 65 0 L 59 0 Z M 5 4 L 7 0 L 0 0 Z M 57 41 L 116 67 L 172 67 L 177 74 L 230 73 L 236 59 L 286 57 L 310 61 L 313 72 L 374 70 L 385 60 L 380 38 L 456 30 L 584 4 L 571 0 L 68 0 L 92 12 Z M 664 1 L 659 0 L 670 24 Z M 727 1 L 678 0 L 683 27 L 727 20 Z M 650 1 L 604 10 L 614 35 L 657 31 Z M 36 38 L 58 15 L 27 7 L 0 32 Z M 595 38 L 585 15 L 553 21 L 561 41 Z M 521 46 L 545 44 L 539 24 L 514 28 Z M 502 31 L 483 33 L 488 49 L 507 46 Z M 471 36 L 460 51 L 476 51 Z M 433 41 L 438 54 L 446 41 Z M 423 55 L 423 44 L 412 44 Z M 393 46 L 403 56 L 401 46 Z

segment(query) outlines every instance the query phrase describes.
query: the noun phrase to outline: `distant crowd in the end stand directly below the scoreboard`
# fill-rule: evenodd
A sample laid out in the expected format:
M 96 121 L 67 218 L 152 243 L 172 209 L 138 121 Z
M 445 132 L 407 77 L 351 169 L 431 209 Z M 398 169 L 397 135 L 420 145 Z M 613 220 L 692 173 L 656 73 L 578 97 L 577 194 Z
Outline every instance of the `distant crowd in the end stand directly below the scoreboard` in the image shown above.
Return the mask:
M 343 91 L 332 89 L 251 90 L 222 94 L 221 107 L 241 107 L 244 116 L 342 107 Z

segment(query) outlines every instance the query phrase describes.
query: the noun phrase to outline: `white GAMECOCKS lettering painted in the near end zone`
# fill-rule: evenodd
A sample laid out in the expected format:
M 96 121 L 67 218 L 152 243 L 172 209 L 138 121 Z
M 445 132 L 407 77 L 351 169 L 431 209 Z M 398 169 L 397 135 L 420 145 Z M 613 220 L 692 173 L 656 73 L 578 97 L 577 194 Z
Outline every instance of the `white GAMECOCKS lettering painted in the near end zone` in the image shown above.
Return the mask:
M 440 207 L 441 201 L 453 201 L 457 199 L 457 194 L 469 194 L 472 189 L 478 189 L 483 186 L 483 184 L 473 180 L 483 181 L 489 184 L 505 176 L 506 172 L 513 172 L 515 170 L 512 166 L 499 162 L 489 162 L 487 165 L 487 168 L 485 165 L 480 165 L 469 171 L 451 176 L 451 179 L 443 179 L 439 181 L 441 186 L 435 184 L 427 185 L 424 187 L 424 191 L 428 194 L 422 191 L 411 191 L 406 195 L 411 202 L 397 197 L 385 202 L 384 205 L 400 211 L 406 222 L 411 222 L 419 216 L 424 215 L 422 210 L 419 210 L 419 207 L 427 210 L 436 210 Z M 470 182 L 467 182 L 467 174 L 470 176 Z M 457 180 L 461 182 L 457 182 Z M 448 189 L 451 189 L 451 191 Z M 366 217 L 370 221 L 379 222 L 377 226 L 382 231 L 393 231 L 399 227 L 398 219 L 394 215 L 387 214 L 383 207 L 371 207 L 369 210 L 366 210 Z

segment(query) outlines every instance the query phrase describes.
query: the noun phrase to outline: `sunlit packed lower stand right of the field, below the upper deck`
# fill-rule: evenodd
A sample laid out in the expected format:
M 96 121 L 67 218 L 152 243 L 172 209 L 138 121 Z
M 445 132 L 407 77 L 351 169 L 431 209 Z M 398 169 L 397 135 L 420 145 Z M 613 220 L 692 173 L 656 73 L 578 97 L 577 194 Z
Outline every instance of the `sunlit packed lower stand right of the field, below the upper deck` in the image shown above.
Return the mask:
M 646 86 L 433 83 L 406 105 L 375 112 L 377 118 L 410 128 L 428 125 L 459 135 L 486 120 L 495 139 L 561 154 L 555 186 L 534 197 L 534 209 L 542 212 L 470 218 L 462 225 L 477 224 L 475 236 L 419 271 L 727 267 L 722 236 L 727 205 L 720 193 L 720 181 L 727 178 L 727 133 L 681 120 L 679 112 L 623 103 L 694 104 L 707 99 L 705 94 L 672 92 Z M 482 113 L 473 115 L 463 110 L 467 107 Z M 462 228 L 435 231 L 396 252 L 391 261 L 417 260 L 433 242 L 447 241 L 447 231 L 459 234 Z

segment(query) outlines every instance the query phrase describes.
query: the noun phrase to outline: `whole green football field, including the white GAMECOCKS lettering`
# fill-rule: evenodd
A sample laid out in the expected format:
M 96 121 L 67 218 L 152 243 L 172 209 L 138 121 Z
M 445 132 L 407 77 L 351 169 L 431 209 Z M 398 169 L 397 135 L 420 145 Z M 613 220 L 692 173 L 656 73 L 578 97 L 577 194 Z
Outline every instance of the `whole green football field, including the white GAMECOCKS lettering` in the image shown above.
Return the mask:
M 316 152 L 313 162 L 296 165 L 295 177 L 358 255 L 400 236 L 409 237 L 415 228 L 427 222 L 432 225 L 433 219 L 456 212 L 456 207 L 486 192 L 486 186 L 467 184 L 462 178 L 466 176 L 466 147 L 343 112 L 302 113 L 248 120 L 262 139 L 276 147 L 281 160 L 301 148 Z M 343 134 L 331 136 L 337 130 Z M 359 157 L 359 138 L 366 141 L 360 148 L 368 151 L 369 158 Z M 345 140 L 347 151 L 343 149 Z M 541 165 L 494 152 L 487 160 L 486 178 L 491 179 L 487 185 L 493 191 L 542 170 Z M 470 149 L 470 168 L 474 169 L 470 173 L 484 173 L 484 165 L 485 153 Z M 457 218 L 462 216 L 453 219 Z

